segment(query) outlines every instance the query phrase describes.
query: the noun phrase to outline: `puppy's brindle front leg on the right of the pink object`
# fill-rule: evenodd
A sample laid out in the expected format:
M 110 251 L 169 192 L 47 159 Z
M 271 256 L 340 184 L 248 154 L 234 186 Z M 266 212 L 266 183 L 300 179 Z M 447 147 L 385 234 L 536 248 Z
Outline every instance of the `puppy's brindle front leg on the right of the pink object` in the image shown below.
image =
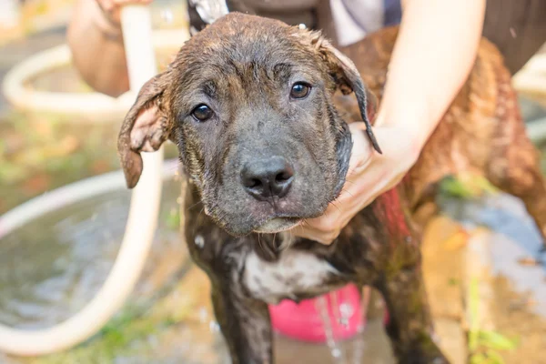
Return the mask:
M 420 264 L 385 273 L 375 284 L 389 310 L 387 334 L 400 364 L 449 363 L 432 339 Z

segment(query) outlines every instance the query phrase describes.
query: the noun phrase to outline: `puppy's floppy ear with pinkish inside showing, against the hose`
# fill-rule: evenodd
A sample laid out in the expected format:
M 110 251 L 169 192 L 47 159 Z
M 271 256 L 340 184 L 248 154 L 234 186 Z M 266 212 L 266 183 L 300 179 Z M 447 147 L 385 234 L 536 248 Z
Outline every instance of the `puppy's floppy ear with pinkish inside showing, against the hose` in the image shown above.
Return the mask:
M 151 78 L 142 86 L 117 137 L 117 153 L 129 188 L 136 186 L 142 174 L 140 152 L 159 149 L 171 130 L 169 117 L 161 102 L 167 87 L 167 72 Z

